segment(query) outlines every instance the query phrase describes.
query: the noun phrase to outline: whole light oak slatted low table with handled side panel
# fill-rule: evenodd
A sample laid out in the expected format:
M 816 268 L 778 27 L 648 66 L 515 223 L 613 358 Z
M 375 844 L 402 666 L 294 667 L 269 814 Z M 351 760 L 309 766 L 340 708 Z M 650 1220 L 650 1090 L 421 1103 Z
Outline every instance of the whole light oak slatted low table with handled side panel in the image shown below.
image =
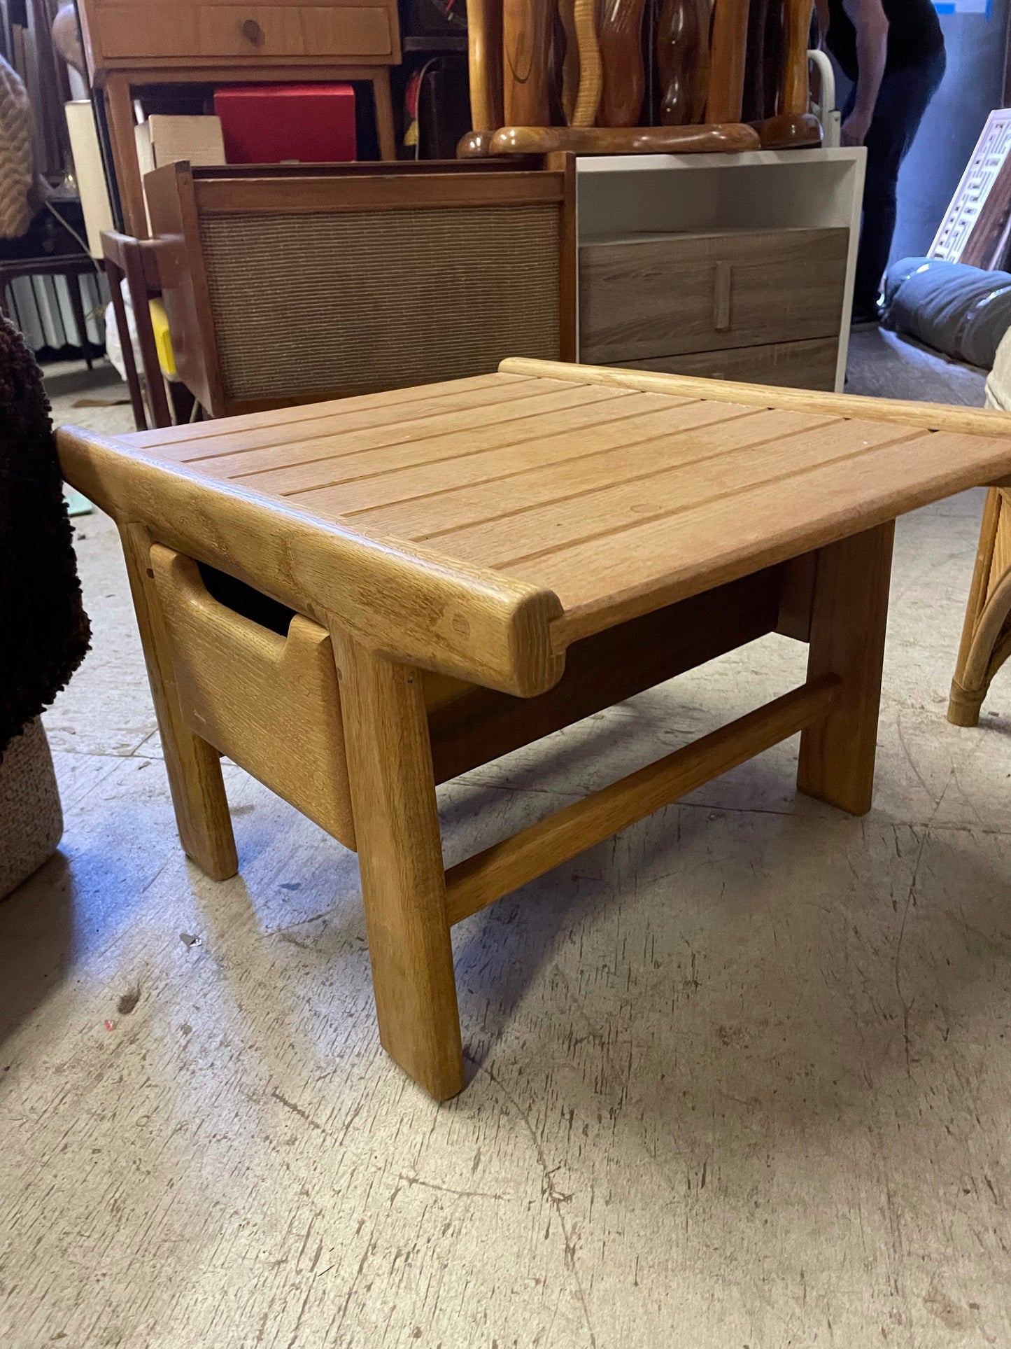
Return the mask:
M 1011 417 L 507 360 L 121 441 L 65 428 L 59 449 L 120 526 L 183 847 L 236 871 L 220 751 L 355 847 L 381 1043 L 445 1099 L 453 924 L 797 731 L 798 788 L 869 808 L 895 515 L 1006 478 Z M 496 563 L 496 530 L 523 556 Z M 197 564 L 287 604 L 287 638 Z M 443 870 L 438 781 L 772 630 L 809 643 L 802 685 Z

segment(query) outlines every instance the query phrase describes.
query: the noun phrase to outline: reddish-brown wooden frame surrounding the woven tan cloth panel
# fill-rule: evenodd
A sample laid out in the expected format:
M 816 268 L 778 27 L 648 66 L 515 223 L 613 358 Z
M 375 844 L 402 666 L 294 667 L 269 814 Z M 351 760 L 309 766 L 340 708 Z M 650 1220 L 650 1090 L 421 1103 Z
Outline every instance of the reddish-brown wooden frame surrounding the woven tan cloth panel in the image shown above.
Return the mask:
M 398 165 L 395 170 L 368 163 L 302 170 L 190 169 L 177 163 L 148 174 L 146 186 L 177 368 L 210 417 L 257 411 L 284 402 L 337 398 L 363 390 L 336 384 L 302 393 L 297 398 L 241 399 L 229 395 L 201 243 L 201 220 L 209 217 L 555 205 L 559 213 L 559 355 L 562 359 L 576 356 L 576 167 L 572 156 L 532 158 L 493 166 L 423 161 Z M 278 258 L 279 272 L 297 266 L 294 258 Z

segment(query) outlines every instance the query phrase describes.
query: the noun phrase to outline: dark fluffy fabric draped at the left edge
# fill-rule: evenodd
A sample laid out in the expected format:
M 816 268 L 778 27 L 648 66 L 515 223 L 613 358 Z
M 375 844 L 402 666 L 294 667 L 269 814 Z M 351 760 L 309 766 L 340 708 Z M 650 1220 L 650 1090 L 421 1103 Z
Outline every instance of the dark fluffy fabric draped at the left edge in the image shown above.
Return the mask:
M 42 374 L 0 318 L 0 755 L 90 637 Z

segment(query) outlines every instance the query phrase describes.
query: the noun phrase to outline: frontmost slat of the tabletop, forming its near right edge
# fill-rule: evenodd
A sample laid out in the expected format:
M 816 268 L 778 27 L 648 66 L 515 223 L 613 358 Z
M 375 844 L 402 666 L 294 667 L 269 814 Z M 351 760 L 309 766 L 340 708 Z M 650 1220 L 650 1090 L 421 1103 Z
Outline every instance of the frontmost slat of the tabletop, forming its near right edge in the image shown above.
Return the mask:
M 1011 467 L 1011 440 L 918 436 L 789 482 L 704 502 L 527 563 L 510 576 L 554 591 L 558 649 L 613 623 L 821 548 Z M 443 541 L 445 544 L 445 541 Z

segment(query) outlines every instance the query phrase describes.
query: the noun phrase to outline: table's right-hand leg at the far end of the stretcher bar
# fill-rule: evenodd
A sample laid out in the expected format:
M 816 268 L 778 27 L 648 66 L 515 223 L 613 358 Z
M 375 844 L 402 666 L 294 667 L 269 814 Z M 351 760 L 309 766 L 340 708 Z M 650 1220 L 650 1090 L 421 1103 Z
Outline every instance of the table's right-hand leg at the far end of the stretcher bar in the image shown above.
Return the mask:
M 838 674 L 842 691 L 801 734 L 797 786 L 851 815 L 865 815 L 874 793 L 894 534 L 888 521 L 818 553 L 807 679 Z

